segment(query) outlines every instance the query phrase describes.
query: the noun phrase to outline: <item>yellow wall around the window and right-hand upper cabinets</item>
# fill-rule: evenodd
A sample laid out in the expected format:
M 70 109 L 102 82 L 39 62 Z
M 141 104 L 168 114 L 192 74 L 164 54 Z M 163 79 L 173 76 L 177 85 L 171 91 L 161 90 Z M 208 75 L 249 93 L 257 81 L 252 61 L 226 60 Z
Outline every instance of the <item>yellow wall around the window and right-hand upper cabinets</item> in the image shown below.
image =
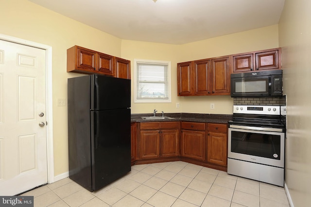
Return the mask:
M 172 103 L 134 103 L 132 94 L 132 113 L 152 113 L 156 109 L 164 112 L 232 114 L 233 98 L 230 96 L 177 96 L 177 63 L 268 48 L 278 48 L 277 25 L 177 46 L 122 40 L 122 57 L 131 60 L 132 79 L 135 58 L 171 61 L 172 66 Z M 179 103 L 179 109 L 176 103 Z M 215 109 L 210 109 L 210 103 L 215 104 Z

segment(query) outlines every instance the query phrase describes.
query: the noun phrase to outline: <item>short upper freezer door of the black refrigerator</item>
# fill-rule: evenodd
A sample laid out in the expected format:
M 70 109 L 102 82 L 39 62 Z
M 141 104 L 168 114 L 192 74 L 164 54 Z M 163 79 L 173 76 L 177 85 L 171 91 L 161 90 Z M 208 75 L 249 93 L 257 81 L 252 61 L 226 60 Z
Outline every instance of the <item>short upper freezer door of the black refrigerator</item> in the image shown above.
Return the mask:
M 91 75 L 91 110 L 131 107 L 131 80 Z

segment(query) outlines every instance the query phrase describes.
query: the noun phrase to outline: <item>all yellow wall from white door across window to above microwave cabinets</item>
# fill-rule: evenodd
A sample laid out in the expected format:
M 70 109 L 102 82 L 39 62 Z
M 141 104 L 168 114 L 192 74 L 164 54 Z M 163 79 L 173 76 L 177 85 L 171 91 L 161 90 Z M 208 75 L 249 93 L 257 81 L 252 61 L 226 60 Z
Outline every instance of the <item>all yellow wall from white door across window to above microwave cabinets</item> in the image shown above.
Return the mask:
M 132 77 L 134 58 L 171 61 L 172 103 L 132 102 L 132 113 L 151 113 L 157 109 L 165 112 L 231 114 L 233 100 L 230 96 L 178 97 L 176 64 L 278 47 L 277 25 L 185 45 L 169 45 L 121 40 L 28 0 L 1 0 L 0 17 L 1 34 L 52 46 L 54 175 L 68 172 L 67 107 L 58 107 L 56 103 L 58 98 L 67 98 L 67 79 L 78 76 L 66 72 L 67 48 L 79 45 L 128 59 L 132 64 Z M 177 102 L 180 103 L 179 109 L 175 107 Z M 209 103 L 215 103 L 214 110 L 209 109 Z

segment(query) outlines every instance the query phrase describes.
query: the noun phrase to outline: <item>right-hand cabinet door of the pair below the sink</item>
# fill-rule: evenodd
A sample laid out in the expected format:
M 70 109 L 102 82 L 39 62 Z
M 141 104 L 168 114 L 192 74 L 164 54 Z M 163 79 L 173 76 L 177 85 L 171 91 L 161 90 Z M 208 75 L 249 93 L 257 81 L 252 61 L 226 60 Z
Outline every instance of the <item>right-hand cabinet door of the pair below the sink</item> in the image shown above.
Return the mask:
M 161 157 L 179 156 L 179 133 L 178 129 L 162 129 L 160 138 Z

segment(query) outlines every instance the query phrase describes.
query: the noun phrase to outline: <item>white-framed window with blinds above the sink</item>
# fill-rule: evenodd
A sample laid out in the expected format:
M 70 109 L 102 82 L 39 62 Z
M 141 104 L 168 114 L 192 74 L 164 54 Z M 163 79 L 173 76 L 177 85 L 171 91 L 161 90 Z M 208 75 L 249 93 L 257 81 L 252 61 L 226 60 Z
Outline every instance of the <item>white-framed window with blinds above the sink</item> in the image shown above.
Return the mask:
M 171 102 L 171 62 L 135 59 L 134 67 L 134 102 Z

